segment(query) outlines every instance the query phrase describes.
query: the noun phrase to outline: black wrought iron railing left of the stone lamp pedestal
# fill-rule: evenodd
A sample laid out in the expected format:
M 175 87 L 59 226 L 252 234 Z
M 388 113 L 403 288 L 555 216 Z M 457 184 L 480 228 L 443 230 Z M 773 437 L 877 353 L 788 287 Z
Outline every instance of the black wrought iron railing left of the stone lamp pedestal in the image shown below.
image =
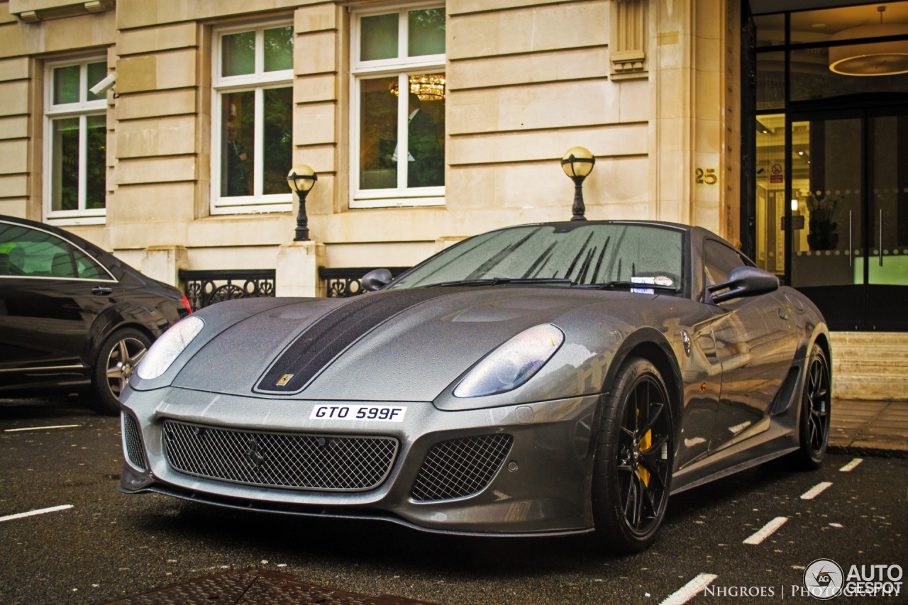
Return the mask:
M 274 296 L 274 269 L 180 271 L 192 311 L 215 302 Z

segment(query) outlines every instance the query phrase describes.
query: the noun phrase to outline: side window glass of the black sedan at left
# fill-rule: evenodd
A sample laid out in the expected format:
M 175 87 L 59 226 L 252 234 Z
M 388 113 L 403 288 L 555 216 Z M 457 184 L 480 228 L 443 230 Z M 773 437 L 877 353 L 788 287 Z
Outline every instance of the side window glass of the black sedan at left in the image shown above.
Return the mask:
M 112 280 L 101 265 L 59 237 L 12 223 L 0 223 L 0 277 Z

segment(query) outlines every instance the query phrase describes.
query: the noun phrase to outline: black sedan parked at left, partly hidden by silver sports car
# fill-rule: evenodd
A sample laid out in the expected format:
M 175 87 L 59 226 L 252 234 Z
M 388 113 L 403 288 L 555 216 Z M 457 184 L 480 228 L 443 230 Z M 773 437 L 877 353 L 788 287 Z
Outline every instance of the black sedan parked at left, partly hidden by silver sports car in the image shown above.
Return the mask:
M 183 293 L 63 229 L 0 215 L 0 396 L 90 387 L 95 412 L 190 312 Z

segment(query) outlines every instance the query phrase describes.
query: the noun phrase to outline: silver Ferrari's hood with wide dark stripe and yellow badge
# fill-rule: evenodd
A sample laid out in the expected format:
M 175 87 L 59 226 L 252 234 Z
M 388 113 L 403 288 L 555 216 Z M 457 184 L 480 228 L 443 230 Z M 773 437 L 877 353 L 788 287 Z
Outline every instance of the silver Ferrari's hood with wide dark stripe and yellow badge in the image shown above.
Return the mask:
M 327 310 L 296 302 L 212 338 L 173 385 L 284 399 L 430 402 L 499 344 L 538 323 L 558 324 L 559 315 L 591 302 L 590 294 L 421 288 L 364 294 Z

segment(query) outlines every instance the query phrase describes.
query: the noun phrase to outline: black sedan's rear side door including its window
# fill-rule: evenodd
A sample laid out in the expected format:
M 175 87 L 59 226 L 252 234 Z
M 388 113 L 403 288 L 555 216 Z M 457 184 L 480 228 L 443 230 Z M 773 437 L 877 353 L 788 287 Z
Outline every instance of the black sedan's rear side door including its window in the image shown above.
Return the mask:
M 0 384 L 84 382 L 88 331 L 119 296 L 113 276 L 81 249 L 0 222 Z

